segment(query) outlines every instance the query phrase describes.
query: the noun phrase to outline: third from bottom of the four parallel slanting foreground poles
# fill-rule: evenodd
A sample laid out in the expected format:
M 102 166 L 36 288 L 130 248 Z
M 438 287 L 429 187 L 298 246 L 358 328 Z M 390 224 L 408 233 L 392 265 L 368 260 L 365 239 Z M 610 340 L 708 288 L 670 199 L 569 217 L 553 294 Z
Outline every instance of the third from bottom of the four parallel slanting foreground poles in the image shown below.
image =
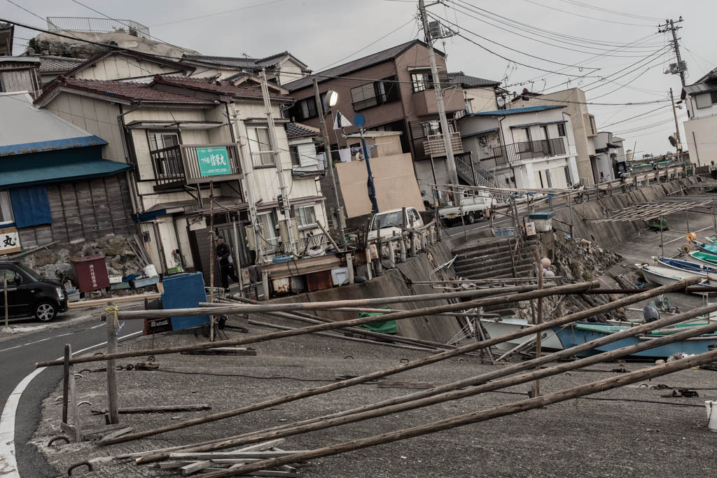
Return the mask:
M 294 435 L 294 434 L 305 433 L 307 431 L 313 431 L 313 430 L 315 430 L 315 428 L 312 427 L 310 429 L 307 429 L 307 428 L 303 428 L 304 426 L 307 426 L 310 424 L 315 424 L 318 422 L 331 423 L 330 426 L 336 426 L 338 424 L 345 424 L 348 422 L 344 422 L 344 421 L 342 421 L 340 423 L 333 422 L 333 421 L 329 422 L 329 420 L 338 419 L 343 416 L 362 414 L 364 412 L 376 410 L 379 408 L 384 409 L 386 407 L 396 406 L 401 403 L 414 402 L 414 401 L 417 401 L 417 400 L 420 400 L 423 398 L 427 398 L 427 397 L 431 397 L 431 396 L 438 396 L 439 394 L 444 394 L 447 392 L 460 390 L 460 389 L 466 388 L 466 387 L 480 386 L 484 383 L 488 383 L 489 381 L 495 381 L 498 378 L 510 376 L 513 373 L 525 371 L 530 368 L 536 368 L 536 371 L 541 371 L 541 370 L 554 371 L 554 373 L 550 373 L 549 376 L 554 375 L 555 373 L 561 373 L 564 370 L 561 368 L 556 368 L 556 367 L 549 368 L 549 369 L 540 369 L 539 368 L 540 365 L 544 365 L 546 363 L 555 362 L 557 360 L 568 358 L 573 355 L 577 355 L 579 353 L 585 352 L 587 350 L 592 350 L 596 347 L 602 347 L 603 345 L 617 342 L 618 340 L 624 340 L 625 338 L 635 337 L 636 335 L 642 335 L 643 333 L 649 333 L 651 330 L 657 330 L 660 328 L 664 328 L 668 325 L 674 325 L 676 323 L 682 322 L 683 320 L 687 320 L 691 317 L 703 315 L 703 314 L 706 314 L 709 312 L 713 312 L 715 310 L 717 310 L 717 304 L 709 305 L 706 307 L 699 307 L 697 309 L 693 309 L 688 312 L 684 312 L 683 314 L 679 314 L 679 315 L 676 315 L 673 317 L 665 317 L 664 319 L 660 319 L 655 322 L 648 322 L 647 324 L 639 325 L 635 328 L 621 330 L 618 333 L 609 334 L 609 335 L 606 335 L 597 340 L 591 340 L 589 343 L 583 343 L 581 345 L 576 345 L 575 347 L 572 347 L 572 348 L 569 348 L 566 350 L 560 350 L 559 352 L 552 353 L 549 355 L 544 355 L 541 358 L 535 358 L 533 360 L 528 360 L 523 363 L 515 363 L 515 364 L 509 365 L 505 368 L 499 368 L 498 370 L 494 370 L 494 371 L 491 371 L 488 373 L 483 373 L 479 376 L 465 378 L 460 381 L 455 381 L 453 383 L 447 383 L 445 385 L 438 386 L 438 387 L 435 387 L 435 388 L 432 388 L 429 390 L 418 391 L 418 392 L 414 392 L 414 393 L 409 393 L 408 395 L 404 395 L 404 396 L 389 398 L 388 400 L 371 403 L 371 404 L 365 405 L 365 406 L 359 406 L 359 407 L 352 408 L 347 411 L 341 411 L 341 412 L 337 412 L 335 414 L 330 414 L 330 415 L 326 415 L 326 416 L 320 416 L 320 417 L 317 417 L 314 419 L 300 421 L 295 424 L 286 424 L 283 426 L 277 426 L 277 427 L 273 427 L 270 429 L 240 434 L 237 436 L 227 437 L 224 440 L 206 441 L 204 443 L 195 444 L 195 446 L 187 448 L 187 451 L 212 451 L 212 450 L 230 448 L 233 446 L 239 446 L 242 444 L 252 443 L 254 441 L 263 441 L 265 439 L 274 438 L 277 436 L 290 436 L 290 435 Z M 707 326 L 704 326 L 701 329 L 688 328 L 688 331 L 693 332 L 695 330 L 699 330 L 699 332 L 695 335 L 701 335 L 703 333 L 710 333 L 711 330 L 716 330 L 716 329 L 717 329 L 716 324 L 709 324 Z M 687 338 L 687 335 L 675 335 L 675 334 L 668 335 L 665 337 L 674 338 L 675 336 L 678 337 L 677 340 L 681 340 L 682 338 Z M 693 336 L 693 335 L 690 335 L 690 336 Z M 662 338 L 660 338 L 660 339 L 662 339 Z M 655 340 L 660 340 L 660 339 L 655 339 Z M 630 354 L 636 353 L 637 351 L 640 351 L 640 350 L 647 350 L 648 348 L 656 347 L 659 345 L 664 345 L 664 343 L 672 343 L 672 342 L 664 342 L 664 341 L 655 342 L 655 340 L 645 341 L 645 343 L 649 343 L 649 344 L 653 344 L 653 345 L 647 345 L 644 348 L 631 348 L 627 353 L 625 353 L 624 355 L 619 355 L 619 356 L 630 355 Z M 612 360 L 614 358 L 618 358 L 616 352 L 610 352 L 607 354 L 612 354 L 612 355 L 606 355 L 606 353 L 603 353 L 600 355 L 593 355 L 587 359 L 579 360 L 578 362 L 571 362 L 566 365 L 559 365 L 559 366 L 561 366 L 561 367 L 566 366 L 566 367 L 569 367 L 568 370 L 572 370 L 573 368 L 570 368 L 570 367 L 574 364 L 580 363 L 581 365 L 576 365 L 574 368 L 581 368 L 581 367 L 584 367 L 587 365 L 592 365 L 594 363 L 599 363 L 600 361 L 607 361 L 607 360 Z M 536 376 L 536 373 L 533 372 L 531 377 L 534 378 L 534 377 L 538 377 L 538 376 Z M 543 376 L 540 376 L 540 377 L 543 378 Z M 493 383 L 502 383 L 502 382 L 493 382 Z M 521 383 L 523 383 L 523 382 L 521 382 Z M 510 386 L 510 385 L 506 385 L 506 386 Z M 500 386 L 498 388 L 505 388 L 505 386 Z M 485 389 L 480 388 L 480 391 L 478 391 L 477 393 L 483 393 L 485 391 L 492 391 L 492 390 L 496 390 L 498 388 L 485 388 Z M 460 398 L 460 397 L 458 397 L 458 398 Z M 453 399 L 453 398 L 451 398 L 451 399 Z M 410 408 L 407 408 L 407 409 L 410 409 Z M 390 411 L 389 413 L 394 413 L 394 411 Z M 375 416 L 380 416 L 380 415 L 375 415 Z M 371 416 L 371 418 L 373 418 L 373 416 Z M 293 430 L 293 432 L 288 432 L 288 433 L 283 432 L 283 430 L 289 430 L 289 429 Z M 280 431 L 281 431 L 281 433 L 279 433 Z M 141 464 L 141 463 L 156 462 L 156 461 L 160 461 L 160 460 L 166 459 L 166 458 L 168 458 L 168 456 L 165 456 L 163 454 L 154 454 L 154 455 L 144 457 L 143 459 L 138 459 L 137 463 Z

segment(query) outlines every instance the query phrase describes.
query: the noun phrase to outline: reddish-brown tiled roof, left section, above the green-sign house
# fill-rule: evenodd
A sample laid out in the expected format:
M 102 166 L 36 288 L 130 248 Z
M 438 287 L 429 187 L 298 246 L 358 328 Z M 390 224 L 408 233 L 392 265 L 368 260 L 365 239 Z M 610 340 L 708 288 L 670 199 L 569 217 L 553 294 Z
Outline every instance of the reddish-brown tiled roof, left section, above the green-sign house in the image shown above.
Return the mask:
M 210 100 L 202 100 L 191 96 L 178 95 L 176 93 L 164 92 L 161 90 L 153 90 L 146 83 L 123 82 L 123 81 L 100 81 L 100 80 L 77 80 L 76 78 L 67 78 L 59 76 L 49 87 L 40 95 L 35 102 L 38 102 L 55 87 L 65 86 L 76 88 L 77 90 L 85 90 L 88 92 L 98 93 L 99 95 L 107 95 L 110 97 L 118 97 L 124 100 L 138 100 L 151 102 L 167 102 L 167 103 L 197 103 L 197 104 L 213 104 Z

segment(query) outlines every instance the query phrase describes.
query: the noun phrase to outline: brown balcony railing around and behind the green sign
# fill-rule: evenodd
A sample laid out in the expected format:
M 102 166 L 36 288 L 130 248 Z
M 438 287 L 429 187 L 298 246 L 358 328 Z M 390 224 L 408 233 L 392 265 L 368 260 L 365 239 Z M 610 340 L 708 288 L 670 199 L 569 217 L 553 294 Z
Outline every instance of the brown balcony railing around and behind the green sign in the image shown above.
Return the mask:
M 229 172 L 224 174 L 202 175 L 197 156 L 197 148 L 226 148 Z M 149 153 L 154 178 L 158 186 L 175 183 L 207 183 L 209 181 L 228 181 L 241 176 L 239 166 L 239 148 L 235 144 L 214 145 L 175 145 Z

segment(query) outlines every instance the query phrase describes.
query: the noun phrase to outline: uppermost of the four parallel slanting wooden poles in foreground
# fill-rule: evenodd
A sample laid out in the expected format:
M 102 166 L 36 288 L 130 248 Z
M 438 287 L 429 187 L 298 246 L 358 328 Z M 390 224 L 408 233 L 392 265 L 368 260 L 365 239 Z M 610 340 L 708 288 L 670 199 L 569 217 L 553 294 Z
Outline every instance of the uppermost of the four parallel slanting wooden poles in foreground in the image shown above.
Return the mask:
M 341 388 L 347 388 L 353 385 L 359 385 L 360 383 L 366 383 L 368 381 L 375 380 L 376 378 L 381 378 L 389 375 L 393 375 L 395 373 L 400 373 L 407 370 L 412 370 L 414 368 L 419 368 L 424 365 L 429 365 L 431 363 L 440 362 L 441 360 L 446 360 L 447 358 L 452 358 L 457 355 L 462 355 L 467 352 L 474 352 L 475 350 L 480 350 L 485 347 L 490 347 L 492 345 L 505 342 L 506 340 L 512 340 L 513 338 L 521 338 L 526 335 L 531 335 L 536 332 L 536 328 L 541 328 L 541 330 L 546 330 L 548 328 L 552 327 L 559 327 L 561 325 L 566 325 L 572 322 L 575 322 L 576 320 L 581 320 L 587 317 L 591 317 L 592 315 L 597 315 L 602 312 L 607 312 L 608 310 L 617 309 L 618 307 L 622 307 L 623 305 L 629 305 L 635 302 L 640 302 L 640 300 L 649 299 L 650 297 L 655 297 L 656 295 L 664 294 L 666 292 L 671 292 L 672 290 L 679 290 L 679 287 L 685 287 L 686 284 L 694 282 L 694 280 L 698 280 L 697 277 L 690 278 L 690 279 L 684 279 L 683 281 L 680 281 L 679 285 L 677 286 L 677 289 L 674 289 L 675 285 L 678 284 L 678 282 L 675 282 L 672 285 L 665 285 L 662 287 L 657 287 L 655 289 L 646 291 L 642 297 L 637 298 L 637 295 L 633 295 L 630 297 L 625 297 L 621 300 L 616 300 L 614 302 L 609 302 L 604 305 L 599 305 L 598 307 L 593 307 L 592 309 L 588 310 L 582 310 L 581 312 L 575 312 L 571 315 L 566 315 L 565 317 L 561 317 L 559 319 L 551 320 L 551 322 L 546 322 L 542 325 L 536 325 L 534 328 L 524 328 L 522 330 L 516 330 L 516 332 L 502 335 L 498 338 L 491 338 L 488 340 L 483 340 L 481 342 L 471 343 L 468 345 L 463 345 L 462 347 L 455 348 L 454 350 L 447 350 L 442 353 L 438 353 L 436 355 L 429 355 L 428 357 L 420 358 L 419 360 L 414 360 L 413 362 L 404 363 L 402 365 L 397 365 L 391 368 L 387 368 L 382 371 L 376 371 L 373 373 L 368 373 L 364 376 L 359 376 L 355 378 L 349 378 L 348 380 L 339 381 L 336 383 L 329 383 L 325 386 L 320 386 L 318 388 L 311 388 L 309 390 L 300 391 L 297 393 L 292 393 L 287 396 L 279 397 L 279 398 L 273 398 L 271 400 L 263 401 L 260 403 L 254 403 L 252 405 L 243 406 L 241 408 L 236 408 L 234 410 L 224 411 L 219 414 L 209 415 L 200 417 L 198 419 L 191 419 L 183 422 L 177 422 L 175 424 L 166 425 L 159 427 L 157 429 L 153 430 L 147 430 L 147 431 L 140 431 L 135 434 L 126 434 L 123 436 L 119 436 L 115 439 L 109 439 L 107 441 L 100 441 L 99 444 L 113 444 L 113 443 L 120 443 L 121 441 L 129 441 L 133 439 L 139 439 L 144 438 L 146 436 L 153 436 L 157 434 L 165 433 L 166 431 L 173 431 L 177 429 L 183 429 L 187 426 L 194 426 L 204 423 L 209 423 L 210 421 L 217 421 L 226 419 L 232 416 L 237 416 L 241 414 L 247 414 L 251 411 L 257 411 L 262 410 L 263 408 L 270 408 L 272 406 L 278 406 L 282 403 L 288 403 L 290 401 L 296 401 L 301 398 L 307 398 L 310 396 L 316 396 L 320 395 L 322 393 L 328 393 L 335 390 L 340 390 Z M 674 317 L 672 317 L 674 318 Z M 331 325 L 331 324 L 329 324 Z M 308 328 L 305 328 L 308 329 Z M 288 331 L 290 332 L 290 331 Z M 156 350 L 154 351 L 156 353 Z M 146 355 L 146 354 L 143 354 Z

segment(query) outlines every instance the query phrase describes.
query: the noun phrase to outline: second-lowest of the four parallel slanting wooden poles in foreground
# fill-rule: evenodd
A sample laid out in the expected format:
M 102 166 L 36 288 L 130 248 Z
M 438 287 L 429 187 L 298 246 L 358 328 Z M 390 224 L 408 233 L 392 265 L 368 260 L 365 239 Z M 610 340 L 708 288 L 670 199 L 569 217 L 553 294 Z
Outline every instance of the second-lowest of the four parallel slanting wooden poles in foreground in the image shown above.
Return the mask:
M 652 324 L 650 324 L 650 325 L 652 325 Z M 617 350 L 611 350 L 609 352 L 600 353 L 598 355 L 591 355 L 588 358 L 583 358 L 581 360 L 576 360 L 574 362 L 562 363 L 562 364 L 556 365 L 554 367 L 538 369 L 536 371 L 523 373 L 522 375 L 519 375 L 519 376 L 510 376 L 508 378 L 504 378 L 503 380 L 492 381 L 490 383 L 485 383 L 485 381 L 484 381 L 483 384 L 479 385 L 479 386 L 473 386 L 470 388 L 456 387 L 456 388 L 453 388 L 452 391 L 449 391 L 446 393 L 440 393 L 440 394 L 437 393 L 432 396 L 428 396 L 426 398 L 420 398 L 417 400 L 409 401 L 408 403 L 404 402 L 404 404 L 389 403 L 389 405 L 387 405 L 387 406 L 374 407 L 374 408 L 371 408 L 370 410 L 359 411 L 354 414 L 342 414 L 342 415 L 338 415 L 338 416 L 331 417 L 328 419 L 315 420 L 315 421 L 311 422 L 310 424 L 303 424 L 303 422 L 300 422 L 300 424 L 293 424 L 293 426 L 289 426 L 289 427 L 281 427 L 281 429 L 272 429 L 272 430 L 267 430 L 267 431 L 255 432 L 253 434 L 252 433 L 244 434 L 244 435 L 240 436 L 239 438 L 232 437 L 232 439 L 225 439 L 224 441 L 218 441 L 210 446 L 204 446 L 201 448 L 203 450 L 205 450 L 205 449 L 216 450 L 216 449 L 222 449 L 222 448 L 230 448 L 230 447 L 234 447 L 234 446 L 241 446 L 244 444 L 265 441 L 267 439 L 274 439 L 277 437 L 286 437 L 286 436 L 295 436 L 295 435 L 299 435 L 299 434 L 305 434 L 305 433 L 309 433 L 311 431 L 328 429 L 333 426 L 341 426 L 341 425 L 345 425 L 345 424 L 356 423 L 357 421 L 364 421 L 367 419 L 374 419 L 374 418 L 377 418 L 380 416 L 392 415 L 392 414 L 401 413 L 403 411 L 414 410 L 416 408 L 432 406 L 432 405 L 436 405 L 437 403 L 444 403 L 446 401 L 458 400 L 460 398 L 466 398 L 469 396 L 479 395 L 480 393 L 487 393 L 490 391 L 501 390 L 503 388 L 520 385 L 521 383 L 539 380 L 540 378 L 547 378 L 550 376 L 555 376 L 559 373 L 573 371 L 578 368 L 584 368 L 589 365 L 594 365 L 596 363 L 600 363 L 600 362 L 604 362 L 604 361 L 608 361 L 608 360 L 616 360 L 618 358 L 623 358 L 623 357 L 626 357 L 627 355 L 631 355 L 633 353 L 638 353 L 643 350 L 648 350 L 650 348 L 655 348 L 655 347 L 660 347 L 661 345 L 675 343 L 675 342 L 678 342 L 679 340 L 693 338 L 697 335 L 702 335 L 705 333 L 713 333 L 715 330 L 717 330 L 717 324 L 715 324 L 715 323 L 711 323 L 708 325 L 702 325 L 700 327 L 695 327 L 695 328 L 687 328 L 686 330 L 683 330 L 683 332 L 680 332 L 680 333 L 676 333 L 673 335 L 665 335 L 665 336 L 657 338 L 655 340 L 645 340 L 636 345 L 630 345 L 630 346 L 627 346 L 624 348 L 619 348 Z M 186 449 L 185 451 L 194 453 L 194 452 L 199 451 L 196 448 L 198 448 L 198 447 Z M 140 464 L 140 463 L 154 461 L 154 460 L 151 460 L 150 458 L 151 457 L 144 457 L 143 459 L 137 459 L 136 462 L 138 464 Z M 161 454 L 161 459 L 166 459 L 166 458 L 168 458 L 167 454 Z

